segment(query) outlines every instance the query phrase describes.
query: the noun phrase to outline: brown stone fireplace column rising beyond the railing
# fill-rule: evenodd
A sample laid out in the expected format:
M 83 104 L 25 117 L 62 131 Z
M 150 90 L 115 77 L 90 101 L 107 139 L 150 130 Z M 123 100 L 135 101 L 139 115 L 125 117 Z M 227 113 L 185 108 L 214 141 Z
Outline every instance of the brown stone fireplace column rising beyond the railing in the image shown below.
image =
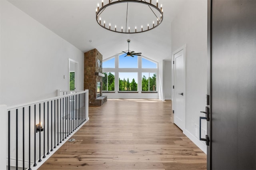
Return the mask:
M 102 96 L 102 77 L 95 73 L 102 73 L 102 55 L 97 49 L 92 49 L 84 53 L 84 89 L 89 89 L 89 105 L 99 105 L 96 101 L 97 82 L 101 82 L 100 96 Z

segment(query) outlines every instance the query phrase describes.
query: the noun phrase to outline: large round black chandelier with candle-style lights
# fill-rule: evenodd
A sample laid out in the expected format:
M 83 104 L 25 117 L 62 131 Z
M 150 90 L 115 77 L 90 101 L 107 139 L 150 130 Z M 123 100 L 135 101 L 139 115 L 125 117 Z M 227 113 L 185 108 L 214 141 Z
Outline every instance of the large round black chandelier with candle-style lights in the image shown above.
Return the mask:
M 158 7 L 158 0 L 154 1 L 152 4 L 152 0 L 108 0 L 104 4 L 102 0 L 101 7 L 98 3 L 96 8 L 96 20 L 112 32 L 146 32 L 159 26 L 164 18 L 162 4 Z

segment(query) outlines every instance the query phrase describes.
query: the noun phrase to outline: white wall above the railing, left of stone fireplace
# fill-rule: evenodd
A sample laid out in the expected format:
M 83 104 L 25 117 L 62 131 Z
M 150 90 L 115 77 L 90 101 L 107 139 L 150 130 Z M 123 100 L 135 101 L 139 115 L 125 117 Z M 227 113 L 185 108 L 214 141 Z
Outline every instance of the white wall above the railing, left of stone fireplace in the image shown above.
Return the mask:
M 68 58 L 79 62 L 78 90 L 83 90 L 84 53 L 9 2 L 0 3 L 0 103 L 16 105 L 68 90 Z

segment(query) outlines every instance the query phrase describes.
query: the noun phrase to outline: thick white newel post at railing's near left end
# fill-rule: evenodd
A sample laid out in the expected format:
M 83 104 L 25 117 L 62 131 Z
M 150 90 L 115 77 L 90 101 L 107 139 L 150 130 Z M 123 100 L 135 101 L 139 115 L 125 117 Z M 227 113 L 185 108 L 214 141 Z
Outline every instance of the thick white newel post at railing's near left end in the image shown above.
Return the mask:
M 0 170 L 6 169 L 6 158 L 7 158 L 7 126 L 8 126 L 8 120 L 7 120 L 7 106 L 6 105 L 0 105 L 0 129 L 2 131 L 2 140 L 0 142 Z M 5 154 L 4 154 L 5 153 Z

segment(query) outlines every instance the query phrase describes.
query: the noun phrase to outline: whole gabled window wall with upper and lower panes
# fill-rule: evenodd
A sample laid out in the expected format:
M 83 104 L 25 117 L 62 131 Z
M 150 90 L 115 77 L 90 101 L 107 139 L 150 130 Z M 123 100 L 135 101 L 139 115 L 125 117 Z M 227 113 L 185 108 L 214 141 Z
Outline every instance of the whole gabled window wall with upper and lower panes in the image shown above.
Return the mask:
M 158 63 L 138 55 L 124 56 L 125 53 L 103 61 L 102 90 L 105 93 L 157 93 Z

